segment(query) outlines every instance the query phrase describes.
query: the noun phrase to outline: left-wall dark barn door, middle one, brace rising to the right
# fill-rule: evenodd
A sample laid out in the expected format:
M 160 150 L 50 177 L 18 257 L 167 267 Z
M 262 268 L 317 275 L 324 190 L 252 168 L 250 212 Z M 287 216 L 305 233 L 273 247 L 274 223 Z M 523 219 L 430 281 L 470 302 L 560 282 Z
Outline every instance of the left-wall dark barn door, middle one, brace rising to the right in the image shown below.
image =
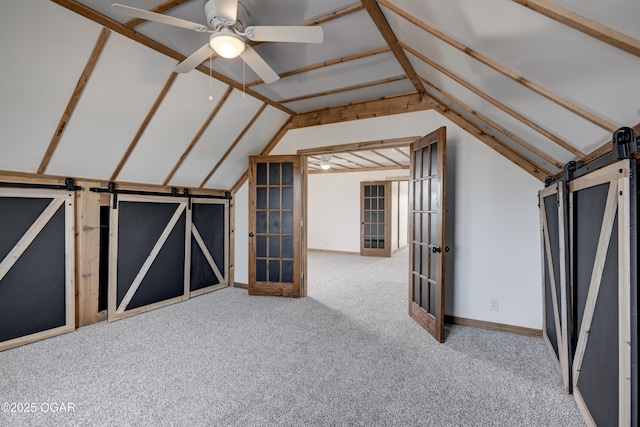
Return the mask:
M 109 320 L 189 296 L 187 199 L 119 195 L 111 211 Z

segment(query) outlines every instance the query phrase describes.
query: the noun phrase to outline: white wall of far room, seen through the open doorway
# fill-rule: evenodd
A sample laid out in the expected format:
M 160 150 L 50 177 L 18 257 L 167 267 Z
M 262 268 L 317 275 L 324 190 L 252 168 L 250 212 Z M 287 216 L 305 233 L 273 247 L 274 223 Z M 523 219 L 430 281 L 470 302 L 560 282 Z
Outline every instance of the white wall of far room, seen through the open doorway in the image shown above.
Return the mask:
M 360 183 L 401 175 L 407 170 L 309 174 L 307 247 L 360 253 Z

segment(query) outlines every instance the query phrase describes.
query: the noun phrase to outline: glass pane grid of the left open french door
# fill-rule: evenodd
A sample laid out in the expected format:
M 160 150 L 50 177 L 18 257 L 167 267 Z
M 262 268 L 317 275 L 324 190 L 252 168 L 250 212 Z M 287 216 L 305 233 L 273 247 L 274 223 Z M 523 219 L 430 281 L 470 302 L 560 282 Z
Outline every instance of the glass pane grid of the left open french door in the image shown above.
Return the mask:
M 293 174 L 291 162 L 256 164 L 258 282 L 293 282 Z

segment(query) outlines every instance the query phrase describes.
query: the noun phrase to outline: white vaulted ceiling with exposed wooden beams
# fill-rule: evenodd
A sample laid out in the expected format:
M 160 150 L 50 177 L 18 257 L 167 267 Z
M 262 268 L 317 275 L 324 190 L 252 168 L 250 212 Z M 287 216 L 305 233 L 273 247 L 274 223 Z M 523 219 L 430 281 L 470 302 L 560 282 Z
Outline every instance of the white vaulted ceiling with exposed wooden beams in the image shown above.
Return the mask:
M 206 21 L 206 0 L 119 2 Z M 640 122 L 636 0 L 241 3 L 250 25 L 319 25 L 324 42 L 253 43 L 271 84 L 215 54 L 176 74 L 207 34 L 104 0 L 3 2 L 0 170 L 230 189 L 290 129 L 435 109 L 543 179 Z M 332 170 L 408 165 L 397 141 L 362 147 Z

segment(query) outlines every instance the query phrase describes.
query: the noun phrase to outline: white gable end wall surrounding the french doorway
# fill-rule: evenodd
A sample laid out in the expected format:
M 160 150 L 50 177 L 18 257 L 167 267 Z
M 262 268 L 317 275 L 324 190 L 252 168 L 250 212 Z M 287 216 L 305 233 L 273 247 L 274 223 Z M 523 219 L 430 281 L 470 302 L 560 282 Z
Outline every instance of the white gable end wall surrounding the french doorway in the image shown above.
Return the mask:
M 273 154 L 426 135 L 440 126 L 447 127 L 448 181 L 455 188 L 453 194 L 449 189 L 453 197 L 447 213 L 449 224 L 453 225 L 449 242 L 453 267 L 448 272 L 453 284 L 447 293 L 446 312 L 468 319 L 541 329 L 537 192 L 543 185 L 454 123 L 435 111 L 421 111 L 297 129 L 285 135 Z M 338 179 L 347 175 L 336 174 Z M 312 179 L 309 181 L 311 188 Z M 236 199 L 240 197 L 247 198 L 246 190 L 240 190 Z M 334 197 L 342 196 L 335 193 Z M 359 195 L 354 199 L 359 200 Z M 247 214 L 238 208 L 239 200 L 236 203 L 236 235 L 242 240 L 243 234 L 238 230 L 241 221 L 246 223 Z M 309 225 L 313 227 L 311 221 L 310 218 Z M 314 232 L 309 230 L 309 236 Z M 239 282 L 246 277 L 246 264 L 247 250 L 241 250 L 236 242 Z M 491 298 L 499 300 L 498 311 L 489 310 Z

